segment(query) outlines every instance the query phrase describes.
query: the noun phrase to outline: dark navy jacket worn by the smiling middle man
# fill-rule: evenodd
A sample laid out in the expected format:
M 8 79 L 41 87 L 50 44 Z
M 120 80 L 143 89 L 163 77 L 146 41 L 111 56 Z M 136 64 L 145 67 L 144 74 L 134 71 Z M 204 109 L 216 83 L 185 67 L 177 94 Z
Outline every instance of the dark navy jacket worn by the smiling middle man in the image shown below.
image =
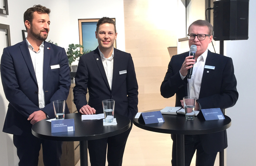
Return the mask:
M 102 100 L 112 99 L 115 100 L 115 114 L 124 115 L 132 120 L 138 112 L 138 84 L 132 56 L 129 53 L 114 48 L 111 89 L 98 48 L 79 58 L 75 82 L 74 103 L 78 111 L 88 104 L 96 109 L 96 114 L 103 113 Z M 87 88 L 89 101 L 86 99 Z

